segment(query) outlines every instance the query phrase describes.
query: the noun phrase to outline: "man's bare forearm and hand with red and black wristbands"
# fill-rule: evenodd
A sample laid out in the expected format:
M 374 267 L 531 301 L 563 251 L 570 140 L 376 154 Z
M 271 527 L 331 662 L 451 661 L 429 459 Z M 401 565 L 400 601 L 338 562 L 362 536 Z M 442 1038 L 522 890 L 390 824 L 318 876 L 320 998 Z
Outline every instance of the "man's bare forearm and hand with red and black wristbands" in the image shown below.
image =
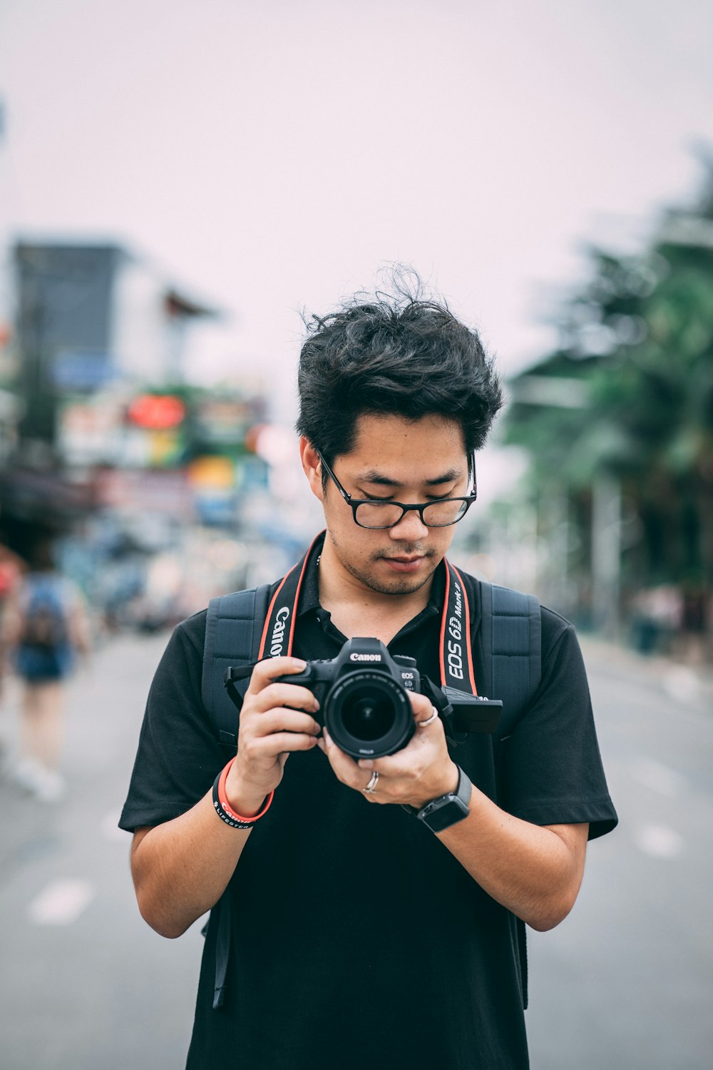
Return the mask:
M 288 755 L 316 744 L 319 703 L 311 691 L 274 684 L 301 672 L 298 658 L 255 666 L 241 710 L 237 754 L 226 781 L 231 808 L 250 817 L 282 779 Z M 285 703 L 290 702 L 290 707 Z M 212 792 L 186 813 L 139 828 L 131 844 L 131 876 L 142 917 L 162 936 L 180 936 L 215 905 L 230 881 L 250 829 L 232 828 L 216 814 Z

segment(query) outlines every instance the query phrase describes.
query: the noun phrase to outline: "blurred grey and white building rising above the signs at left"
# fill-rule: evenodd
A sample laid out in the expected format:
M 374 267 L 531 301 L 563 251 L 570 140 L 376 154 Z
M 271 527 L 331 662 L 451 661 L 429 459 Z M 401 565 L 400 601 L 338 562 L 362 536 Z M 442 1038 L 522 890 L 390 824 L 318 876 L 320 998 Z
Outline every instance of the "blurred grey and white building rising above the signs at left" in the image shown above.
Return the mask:
M 22 456 L 57 446 L 67 401 L 181 383 L 191 326 L 218 315 L 119 245 L 19 242 L 14 275 Z

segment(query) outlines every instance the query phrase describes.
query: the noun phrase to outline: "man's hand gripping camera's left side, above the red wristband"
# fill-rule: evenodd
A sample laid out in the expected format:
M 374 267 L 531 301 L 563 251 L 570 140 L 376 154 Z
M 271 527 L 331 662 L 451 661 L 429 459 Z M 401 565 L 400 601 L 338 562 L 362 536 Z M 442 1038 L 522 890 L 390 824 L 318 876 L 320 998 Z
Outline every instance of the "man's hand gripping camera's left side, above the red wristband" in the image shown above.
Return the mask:
M 304 672 L 299 658 L 267 658 L 252 670 L 241 709 L 237 755 L 226 781 L 232 809 L 244 817 L 260 812 L 282 779 L 293 750 L 311 750 L 322 727 L 312 717 L 320 704 L 310 690 L 275 684 L 276 676 Z

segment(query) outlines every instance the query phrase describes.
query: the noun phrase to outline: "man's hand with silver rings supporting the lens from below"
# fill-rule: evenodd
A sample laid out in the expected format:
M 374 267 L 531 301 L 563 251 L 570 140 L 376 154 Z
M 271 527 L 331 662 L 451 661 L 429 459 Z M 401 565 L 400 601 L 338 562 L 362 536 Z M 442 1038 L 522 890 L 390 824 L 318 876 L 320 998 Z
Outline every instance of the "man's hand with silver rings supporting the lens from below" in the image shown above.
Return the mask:
M 416 731 L 408 744 L 386 758 L 358 762 L 334 743 L 326 728 L 319 746 L 337 778 L 362 792 L 370 802 L 400 802 L 420 809 L 431 799 L 458 790 L 458 766 L 448 753 L 446 733 L 434 707 L 423 694 L 408 692 Z M 428 724 L 423 723 L 429 721 Z M 367 789 L 371 785 L 371 791 Z

